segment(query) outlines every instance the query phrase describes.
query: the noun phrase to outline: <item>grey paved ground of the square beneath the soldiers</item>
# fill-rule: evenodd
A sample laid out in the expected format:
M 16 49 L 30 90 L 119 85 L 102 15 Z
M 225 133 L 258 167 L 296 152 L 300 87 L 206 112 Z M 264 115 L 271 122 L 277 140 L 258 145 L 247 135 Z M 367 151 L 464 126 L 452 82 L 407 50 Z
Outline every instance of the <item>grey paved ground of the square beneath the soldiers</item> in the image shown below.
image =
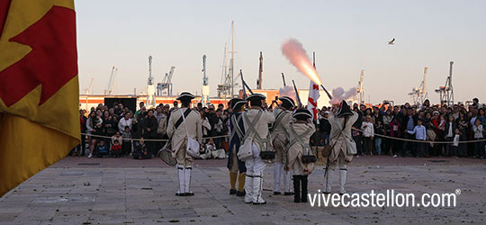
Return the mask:
M 443 208 L 312 208 L 272 196 L 271 166 L 268 203 L 245 204 L 228 194 L 225 163 L 196 161 L 196 194 L 177 197 L 175 168 L 161 166 L 159 159 L 67 157 L 1 198 L 0 224 L 486 224 L 486 160 L 359 157 L 349 167 L 348 193 L 460 189 L 457 206 Z M 322 177 L 318 166 L 310 176 L 311 193 L 322 188 Z

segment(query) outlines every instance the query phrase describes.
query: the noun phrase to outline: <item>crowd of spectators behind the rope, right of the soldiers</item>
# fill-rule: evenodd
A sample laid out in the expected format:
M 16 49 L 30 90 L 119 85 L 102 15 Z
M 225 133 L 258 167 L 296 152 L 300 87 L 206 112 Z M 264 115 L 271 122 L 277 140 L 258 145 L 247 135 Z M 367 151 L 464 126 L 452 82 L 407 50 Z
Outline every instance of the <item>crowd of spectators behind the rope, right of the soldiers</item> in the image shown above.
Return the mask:
M 320 133 L 311 138 L 313 146 L 323 146 L 329 141 L 329 110 L 328 107 L 320 110 L 319 122 L 316 121 Z M 485 157 L 482 139 L 486 137 L 486 105 L 477 98 L 467 106 L 432 105 L 426 100 L 421 105 L 366 107 L 354 103 L 353 110 L 359 115 L 352 131 L 358 156 Z

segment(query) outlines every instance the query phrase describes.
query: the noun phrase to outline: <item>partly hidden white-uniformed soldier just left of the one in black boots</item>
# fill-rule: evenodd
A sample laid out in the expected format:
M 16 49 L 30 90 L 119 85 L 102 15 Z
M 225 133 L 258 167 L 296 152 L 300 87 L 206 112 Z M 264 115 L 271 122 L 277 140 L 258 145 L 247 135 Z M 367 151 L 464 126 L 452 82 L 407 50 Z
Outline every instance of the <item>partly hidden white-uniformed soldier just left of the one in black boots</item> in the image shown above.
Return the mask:
M 274 194 L 280 194 L 280 179 L 284 175 L 284 195 L 292 195 L 291 190 L 291 174 L 292 171 L 285 171 L 284 164 L 287 161 L 287 144 L 289 143 L 287 136 L 287 125 L 292 120 L 292 112 L 295 107 L 293 99 L 287 96 L 279 98 L 282 104 L 275 108 L 274 116 L 275 122 L 272 126 L 272 144 L 275 150 L 274 163 Z

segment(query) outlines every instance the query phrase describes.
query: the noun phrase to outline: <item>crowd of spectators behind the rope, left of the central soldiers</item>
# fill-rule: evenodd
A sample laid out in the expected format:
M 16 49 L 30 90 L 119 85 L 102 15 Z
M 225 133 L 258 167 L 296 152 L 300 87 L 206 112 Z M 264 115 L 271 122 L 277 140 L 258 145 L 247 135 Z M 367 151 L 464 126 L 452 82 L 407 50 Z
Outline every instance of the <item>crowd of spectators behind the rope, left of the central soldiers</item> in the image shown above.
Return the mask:
M 69 155 L 87 157 L 121 157 L 131 156 L 136 159 L 155 157 L 158 149 L 165 145 L 167 121 L 172 112 L 178 110 L 175 101 L 169 104 L 158 104 L 155 108 L 147 109 L 145 103 L 139 103 L 139 110 L 131 112 L 121 103 L 114 103 L 110 108 L 103 103 L 92 107 L 89 112 L 80 110 L 81 132 L 88 134 L 81 136 L 81 144 Z M 203 146 L 209 157 L 212 150 L 228 148 L 225 137 L 229 132 L 229 111 L 223 104 L 218 108 L 214 105 L 202 107 L 197 103 L 193 110 L 201 114 Z M 132 141 L 131 139 L 139 139 Z M 157 139 L 157 141 L 151 141 Z M 86 142 L 87 141 L 87 142 Z M 87 147 L 86 147 L 87 143 Z M 215 156 L 220 157 L 221 154 Z M 206 155 L 204 155 L 206 156 Z M 205 157 L 208 158 L 208 157 Z

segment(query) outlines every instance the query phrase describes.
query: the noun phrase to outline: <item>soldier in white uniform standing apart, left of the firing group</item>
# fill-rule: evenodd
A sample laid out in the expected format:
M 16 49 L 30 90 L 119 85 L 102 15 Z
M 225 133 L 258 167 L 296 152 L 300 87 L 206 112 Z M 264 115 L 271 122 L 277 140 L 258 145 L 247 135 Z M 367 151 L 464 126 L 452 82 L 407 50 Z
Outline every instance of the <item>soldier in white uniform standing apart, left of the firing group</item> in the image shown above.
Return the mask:
M 187 135 L 189 138 L 196 139 L 199 145 L 202 146 L 202 126 L 201 115 L 199 112 L 191 110 L 191 100 L 195 96 L 188 92 L 181 93 L 177 100 L 181 101 L 181 108 L 173 111 L 167 123 L 166 134 L 172 138 L 172 156 L 177 159 L 177 171 L 179 175 L 179 191 L 175 193 L 178 196 L 189 196 L 194 193 L 191 192 L 191 172 L 193 168 L 194 158 L 187 154 Z M 182 118 L 184 113 L 185 124 Z

